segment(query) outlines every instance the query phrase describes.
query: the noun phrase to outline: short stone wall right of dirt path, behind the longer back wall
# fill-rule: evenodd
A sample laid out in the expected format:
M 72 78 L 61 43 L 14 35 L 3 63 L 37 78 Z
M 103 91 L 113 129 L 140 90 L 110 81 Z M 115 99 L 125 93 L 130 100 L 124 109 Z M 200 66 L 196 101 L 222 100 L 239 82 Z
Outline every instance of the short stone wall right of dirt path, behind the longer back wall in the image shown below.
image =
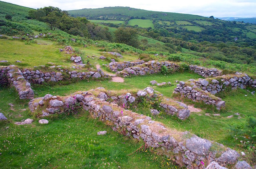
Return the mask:
M 130 68 L 130 67 L 133 67 L 133 66 L 141 65 L 143 63 L 145 63 L 145 61 L 143 61 L 143 60 L 135 60 L 133 62 L 128 62 L 128 61 L 125 61 L 125 62 L 110 62 L 108 67 L 112 71 L 117 72 L 119 70 L 124 70 L 125 68 Z

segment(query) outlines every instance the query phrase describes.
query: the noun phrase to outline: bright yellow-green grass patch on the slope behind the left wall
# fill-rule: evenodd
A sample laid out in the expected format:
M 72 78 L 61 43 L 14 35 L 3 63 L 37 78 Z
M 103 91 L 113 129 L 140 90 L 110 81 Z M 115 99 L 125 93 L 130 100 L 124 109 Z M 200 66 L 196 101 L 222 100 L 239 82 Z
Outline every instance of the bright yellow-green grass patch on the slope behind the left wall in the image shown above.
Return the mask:
M 35 43 L 25 45 L 26 41 L 0 39 L 0 46 L 5 48 L 0 51 L 0 60 L 8 60 L 12 64 L 17 64 L 16 61 L 19 60 L 25 64 L 26 68 L 45 65 L 47 62 L 52 62 L 56 66 L 70 67 L 70 55 L 64 55 L 59 51 L 59 48 L 63 48 L 63 46 L 54 45 L 55 43 L 43 39 L 34 41 L 41 45 Z

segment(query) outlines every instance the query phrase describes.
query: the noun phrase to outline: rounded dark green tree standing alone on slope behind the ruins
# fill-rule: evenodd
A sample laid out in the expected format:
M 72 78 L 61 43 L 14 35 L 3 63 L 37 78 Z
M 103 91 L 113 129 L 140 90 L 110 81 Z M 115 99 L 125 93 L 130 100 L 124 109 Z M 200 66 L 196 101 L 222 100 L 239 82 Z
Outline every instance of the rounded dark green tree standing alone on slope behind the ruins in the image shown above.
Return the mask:
M 133 28 L 119 28 L 115 32 L 115 39 L 118 43 L 124 43 L 133 47 L 139 46 L 138 33 Z

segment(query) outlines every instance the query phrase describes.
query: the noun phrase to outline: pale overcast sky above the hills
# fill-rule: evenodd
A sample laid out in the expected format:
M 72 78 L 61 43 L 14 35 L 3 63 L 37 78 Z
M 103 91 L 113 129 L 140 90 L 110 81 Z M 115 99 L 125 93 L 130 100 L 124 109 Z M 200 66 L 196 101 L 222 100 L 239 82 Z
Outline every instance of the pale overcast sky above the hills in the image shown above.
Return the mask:
M 204 17 L 256 17 L 256 0 L 3 0 L 20 6 L 55 6 L 62 10 L 129 6 L 151 11 L 196 14 Z

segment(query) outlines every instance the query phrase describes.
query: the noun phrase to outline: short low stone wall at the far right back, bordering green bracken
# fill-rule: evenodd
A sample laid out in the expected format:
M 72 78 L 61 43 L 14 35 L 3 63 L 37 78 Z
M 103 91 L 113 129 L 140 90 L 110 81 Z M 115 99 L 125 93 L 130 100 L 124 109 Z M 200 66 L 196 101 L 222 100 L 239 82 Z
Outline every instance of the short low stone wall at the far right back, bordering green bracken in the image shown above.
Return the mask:
M 215 68 L 204 68 L 198 65 L 189 65 L 189 69 L 194 71 L 195 73 L 203 76 L 203 77 L 216 77 L 221 76 L 221 70 L 215 69 Z

